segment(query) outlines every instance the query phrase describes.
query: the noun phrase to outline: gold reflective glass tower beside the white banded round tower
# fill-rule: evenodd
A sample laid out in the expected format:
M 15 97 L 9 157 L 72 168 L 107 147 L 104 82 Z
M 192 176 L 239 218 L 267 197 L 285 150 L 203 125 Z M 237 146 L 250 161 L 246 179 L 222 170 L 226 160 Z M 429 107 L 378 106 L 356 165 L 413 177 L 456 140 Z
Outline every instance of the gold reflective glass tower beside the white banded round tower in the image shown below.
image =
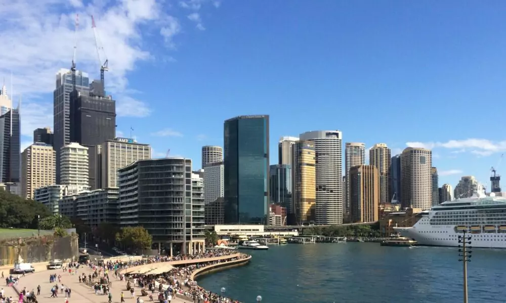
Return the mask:
M 292 149 L 290 225 L 316 221 L 316 154 L 313 141 L 297 141 Z

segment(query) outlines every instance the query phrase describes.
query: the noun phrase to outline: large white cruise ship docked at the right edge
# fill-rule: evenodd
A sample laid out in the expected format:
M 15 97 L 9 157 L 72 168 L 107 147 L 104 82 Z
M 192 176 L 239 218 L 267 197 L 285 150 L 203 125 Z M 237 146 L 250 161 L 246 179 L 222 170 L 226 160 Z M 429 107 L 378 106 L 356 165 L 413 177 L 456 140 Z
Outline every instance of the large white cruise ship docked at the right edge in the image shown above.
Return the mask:
M 500 196 L 499 196 L 500 195 Z M 466 226 L 471 246 L 506 248 L 506 193 L 475 193 L 472 197 L 446 201 L 422 212 L 413 227 L 394 227 L 418 245 L 457 246 L 457 227 Z

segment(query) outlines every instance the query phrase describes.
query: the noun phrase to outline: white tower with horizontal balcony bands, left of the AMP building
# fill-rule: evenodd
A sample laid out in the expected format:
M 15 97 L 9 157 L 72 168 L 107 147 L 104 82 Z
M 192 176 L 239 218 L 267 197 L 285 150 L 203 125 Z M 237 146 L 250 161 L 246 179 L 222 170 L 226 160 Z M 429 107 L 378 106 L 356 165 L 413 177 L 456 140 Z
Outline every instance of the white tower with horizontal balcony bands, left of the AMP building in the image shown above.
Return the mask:
M 60 168 L 61 184 L 89 188 L 88 147 L 72 142 L 61 148 Z M 53 183 L 52 183 L 53 184 Z

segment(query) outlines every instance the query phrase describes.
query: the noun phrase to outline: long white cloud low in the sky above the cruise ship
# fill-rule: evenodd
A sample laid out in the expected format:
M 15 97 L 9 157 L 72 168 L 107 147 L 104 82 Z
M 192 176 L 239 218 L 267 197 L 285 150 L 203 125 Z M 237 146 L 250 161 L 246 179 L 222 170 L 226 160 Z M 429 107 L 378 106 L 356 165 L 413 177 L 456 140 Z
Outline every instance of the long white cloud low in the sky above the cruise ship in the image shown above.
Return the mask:
M 471 153 L 480 156 L 489 156 L 494 153 L 506 151 L 506 140 L 491 141 L 488 139 L 470 138 L 464 140 L 449 140 L 447 142 L 406 142 L 410 147 L 423 147 L 427 149 L 448 148 L 455 149 L 453 153 L 463 153 L 471 149 Z

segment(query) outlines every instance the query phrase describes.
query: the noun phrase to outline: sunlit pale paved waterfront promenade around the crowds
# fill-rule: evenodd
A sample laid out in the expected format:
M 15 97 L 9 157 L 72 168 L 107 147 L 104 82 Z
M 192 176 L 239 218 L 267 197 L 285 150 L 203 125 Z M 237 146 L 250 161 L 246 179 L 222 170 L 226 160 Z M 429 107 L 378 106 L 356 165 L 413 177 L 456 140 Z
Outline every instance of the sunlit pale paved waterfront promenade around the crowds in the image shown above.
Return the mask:
M 212 257 L 212 258 L 200 258 L 200 259 L 186 259 L 186 260 L 179 260 L 179 261 L 167 261 L 167 262 L 157 262 L 157 263 L 150 263 L 150 264 L 144 264 L 139 266 L 134 266 L 127 268 L 126 270 L 122 270 L 122 273 L 128 273 L 128 272 L 142 272 L 142 271 L 153 271 L 154 269 L 157 269 L 157 272 L 159 270 L 168 269 L 170 270 L 173 268 L 173 266 L 182 266 L 182 265 L 192 265 L 197 263 L 213 263 L 212 265 L 209 265 L 208 267 L 224 267 L 227 266 L 229 263 L 231 266 L 234 266 L 238 263 L 238 261 L 242 261 L 242 263 L 249 261 L 249 258 L 243 258 L 241 260 L 234 260 L 234 261 L 227 261 L 228 259 L 234 259 L 239 258 L 242 254 L 231 254 L 231 255 L 225 255 L 225 256 L 219 256 L 219 257 Z M 214 263 L 214 262 L 220 262 L 220 263 Z M 60 290 L 58 291 L 58 298 L 52 298 L 51 297 L 51 288 L 56 283 L 50 283 L 49 277 L 51 274 L 61 275 L 61 282 L 58 283 L 60 286 L 63 284 L 65 287 L 69 287 L 71 289 L 71 295 L 69 298 L 69 303 L 106 303 L 108 302 L 108 296 L 107 295 L 101 295 L 101 294 L 95 294 L 95 291 L 88 285 L 84 283 L 79 283 L 78 275 L 82 275 L 85 273 L 87 276 L 89 274 L 93 273 L 93 269 L 90 267 L 81 267 L 77 270 L 77 274 L 70 275 L 68 272 L 64 272 L 63 270 L 47 270 L 39 267 L 40 270 L 37 270 L 33 274 L 26 274 L 24 277 L 20 276 L 20 280 L 17 286 L 14 287 L 8 287 L 3 286 L 5 294 L 7 296 L 12 296 L 15 300 L 18 299 L 18 292 L 22 291 L 23 288 L 26 287 L 26 291 L 35 291 L 37 286 L 40 285 L 41 291 L 40 295 L 37 296 L 38 303 L 50 303 L 55 300 L 65 300 L 64 293 L 61 293 Z M 192 275 L 191 278 L 193 278 L 196 274 L 196 272 L 202 272 L 205 271 L 207 267 L 199 268 L 196 270 Z M 4 272 L 5 276 L 8 276 L 8 271 Z M 112 302 L 120 302 L 121 299 L 121 291 L 123 291 L 124 299 L 126 303 L 136 303 L 137 297 L 140 296 L 140 288 L 136 287 L 136 297 L 130 298 L 130 292 L 126 291 L 126 284 L 124 281 L 120 281 L 113 277 L 112 273 L 109 274 L 110 281 L 112 282 L 111 287 L 111 293 L 112 293 Z M 97 280 L 97 279 L 96 279 Z M 4 284 L 5 285 L 5 284 Z M 156 291 L 157 295 L 157 291 Z M 145 302 L 149 301 L 148 296 L 140 296 L 141 299 L 143 299 Z M 156 300 L 156 296 L 154 295 L 154 298 Z M 172 302 L 175 303 L 191 303 L 192 300 L 190 298 L 185 298 L 184 296 L 178 295 L 177 297 L 174 297 Z M 172 303 L 171 302 L 171 303 Z

